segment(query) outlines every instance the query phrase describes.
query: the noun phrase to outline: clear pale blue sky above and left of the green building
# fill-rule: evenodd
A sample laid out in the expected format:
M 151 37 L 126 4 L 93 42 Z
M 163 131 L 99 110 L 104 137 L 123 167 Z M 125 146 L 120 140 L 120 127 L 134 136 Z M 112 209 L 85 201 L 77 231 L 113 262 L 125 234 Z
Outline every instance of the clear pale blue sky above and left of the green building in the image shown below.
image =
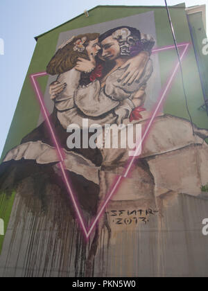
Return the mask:
M 167 2 L 170 6 L 185 2 L 189 7 L 205 4 L 207 0 L 167 0 Z M 80 15 L 85 9 L 89 10 L 98 5 L 163 6 L 164 0 L 0 1 L 0 39 L 4 42 L 4 55 L 0 55 L 0 153 L 33 56 L 36 44 L 34 37 Z

